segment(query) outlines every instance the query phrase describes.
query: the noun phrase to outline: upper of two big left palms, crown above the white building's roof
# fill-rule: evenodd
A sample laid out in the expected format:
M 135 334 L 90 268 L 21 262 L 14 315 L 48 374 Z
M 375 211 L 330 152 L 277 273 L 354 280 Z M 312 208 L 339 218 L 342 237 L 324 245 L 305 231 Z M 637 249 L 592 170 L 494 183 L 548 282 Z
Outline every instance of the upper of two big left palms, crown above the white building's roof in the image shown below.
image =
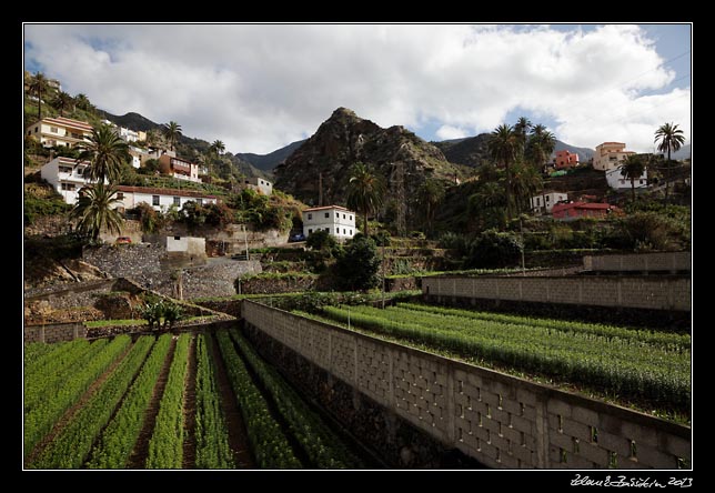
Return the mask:
M 92 129 L 88 141 L 80 142 L 77 161 L 90 161 L 88 178 L 104 183 L 115 183 L 121 175 L 122 162 L 129 161 L 129 145 L 108 125 Z

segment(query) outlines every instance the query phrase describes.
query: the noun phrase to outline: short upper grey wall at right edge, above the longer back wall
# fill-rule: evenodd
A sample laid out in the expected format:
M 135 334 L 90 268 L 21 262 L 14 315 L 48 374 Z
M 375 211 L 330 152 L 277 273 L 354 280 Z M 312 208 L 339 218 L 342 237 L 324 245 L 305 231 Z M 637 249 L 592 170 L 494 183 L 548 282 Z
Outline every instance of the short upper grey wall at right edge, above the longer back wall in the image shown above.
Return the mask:
M 691 252 L 586 255 L 584 270 L 596 272 L 691 272 Z

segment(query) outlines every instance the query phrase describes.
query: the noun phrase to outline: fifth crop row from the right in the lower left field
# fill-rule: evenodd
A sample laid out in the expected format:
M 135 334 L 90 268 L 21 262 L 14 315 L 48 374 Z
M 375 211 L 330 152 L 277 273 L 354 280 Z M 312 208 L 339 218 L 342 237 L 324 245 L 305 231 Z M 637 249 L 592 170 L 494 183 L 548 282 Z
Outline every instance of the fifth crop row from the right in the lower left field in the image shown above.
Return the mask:
M 171 334 L 164 334 L 154 344 L 141 372 L 127 392 L 121 406 L 92 449 L 90 469 L 122 469 L 139 439 L 144 423 L 144 411 L 153 395 L 157 379 L 171 346 Z

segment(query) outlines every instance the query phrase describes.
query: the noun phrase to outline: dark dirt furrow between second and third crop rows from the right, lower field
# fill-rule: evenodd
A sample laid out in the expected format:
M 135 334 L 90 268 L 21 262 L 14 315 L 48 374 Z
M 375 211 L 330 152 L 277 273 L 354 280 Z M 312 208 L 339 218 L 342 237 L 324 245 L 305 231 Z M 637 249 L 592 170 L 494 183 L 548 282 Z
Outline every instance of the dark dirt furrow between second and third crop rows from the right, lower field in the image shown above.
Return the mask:
M 235 395 L 233 394 L 233 390 L 229 383 L 225 363 L 219 352 L 215 335 L 212 333 L 211 339 L 207 338 L 207 341 L 210 343 L 211 356 L 215 362 L 216 386 L 219 388 L 219 398 L 223 410 L 223 416 L 225 417 L 226 427 L 229 429 L 229 446 L 233 452 L 233 461 L 236 464 L 236 469 L 255 469 L 255 460 L 251 454 L 249 436 L 245 432 L 245 425 L 241 417 L 241 411 L 239 410 Z

